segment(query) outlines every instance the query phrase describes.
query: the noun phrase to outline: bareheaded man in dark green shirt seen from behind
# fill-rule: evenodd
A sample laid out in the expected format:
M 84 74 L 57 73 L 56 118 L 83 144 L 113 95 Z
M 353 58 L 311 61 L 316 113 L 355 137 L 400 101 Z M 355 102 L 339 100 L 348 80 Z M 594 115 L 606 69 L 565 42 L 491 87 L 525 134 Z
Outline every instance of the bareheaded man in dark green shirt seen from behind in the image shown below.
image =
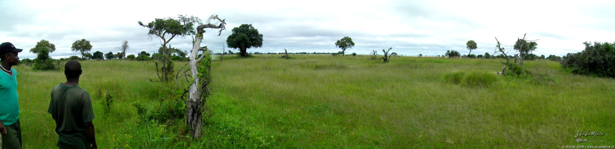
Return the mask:
M 66 83 L 51 91 L 49 112 L 55 120 L 60 148 L 98 148 L 94 135 L 94 113 L 90 94 L 79 87 L 81 64 L 76 60 L 64 66 Z M 91 146 L 90 146 L 91 144 Z

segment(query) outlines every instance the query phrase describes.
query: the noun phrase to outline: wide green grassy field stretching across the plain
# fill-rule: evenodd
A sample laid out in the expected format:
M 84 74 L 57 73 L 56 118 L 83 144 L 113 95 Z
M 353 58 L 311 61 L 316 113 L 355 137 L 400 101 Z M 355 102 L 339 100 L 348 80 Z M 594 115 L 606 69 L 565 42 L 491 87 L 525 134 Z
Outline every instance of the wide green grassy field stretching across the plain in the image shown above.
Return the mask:
M 83 61 L 80 86 L 92 95 L 99 148 L 561 148 L 615 145 L 615 79 L 566 73 L 558 62 L 526 61 L 533 77 L 497 76 L 502 60 L 367 56 L 256 55 L 212 63 L 212 94 L 204 134 L 186 137 L 183 119 L 154 115 L 174 83 L 156 78 L 153 63 Z M 176 62 L 176 70 L 183 63 Z M 16 66 L 25 148 L 53 148 L 55 123 L 46 113 L 62 71 Z M 446 75 L 493 75 L 493 83 L 451 83 Z M 490 76 L 489 76 L 490 77 Z M 466 77 L 471 78 L 471 77 Z M 461 79 L 463 82 L 464 78 Z M 467 79 L 470 80 L 470 79 Z M 113 108 L 103 112 L 106 92 Z M 153 114 L 154 113 L 154 114 Z M 579 138 L 577 131 L 605 135 Z

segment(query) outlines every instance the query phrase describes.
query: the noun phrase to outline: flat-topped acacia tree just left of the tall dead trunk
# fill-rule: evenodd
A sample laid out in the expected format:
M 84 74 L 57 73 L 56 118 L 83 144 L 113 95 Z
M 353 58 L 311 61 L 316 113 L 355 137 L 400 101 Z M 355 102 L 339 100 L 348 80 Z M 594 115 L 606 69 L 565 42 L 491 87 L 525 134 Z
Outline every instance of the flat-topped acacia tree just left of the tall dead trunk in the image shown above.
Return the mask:
M 149 22 L 147 25 L 143 22 L 138 22 L 139 25 L 148 28 L 149 36 L 155 35 L 161 38 L 161 57 L 157 58 L 156 74 L 161 81 L 169 81 L 172 78 L 173 62 L 171 60 L 172 52 L 167 44 L 171 42 L 171 39 L 175 36 L 189 36 L 195 34 L 194 25 L 200 24 L 200 19 L 197 17 L 187 17 L 185 15 L 179 15 L 178 18 L 156 18 L 154 21 Z M 167 39 L 168 38 L 168 39 Z M 158 69 L 159 62 L 161 68 Z

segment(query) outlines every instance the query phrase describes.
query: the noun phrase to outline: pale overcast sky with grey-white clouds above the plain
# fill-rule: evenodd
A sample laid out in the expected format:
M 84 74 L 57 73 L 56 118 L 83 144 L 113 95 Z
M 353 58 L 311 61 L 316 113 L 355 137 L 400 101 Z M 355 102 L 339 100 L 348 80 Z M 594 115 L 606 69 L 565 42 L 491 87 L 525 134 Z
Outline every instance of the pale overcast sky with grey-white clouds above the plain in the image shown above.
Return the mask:
M 507 49 L 527 33 L 539 39 L 537 55 L 565 55 L 584 49 L 582 42 L 615 41 L 613 1 L 7 1 L 0 0 L 0 42 L 24 49 L 21 58 L 35 58 L 30 49 L 45 39 L 55 44 L 54 58 L 71 52 L 74 41 L 87 39 L 92 51 L 128 54 L 157 52 L 161 41 L 137 24 L 178 14 L 225 18 L 221 36 L 207 30 L 201 46 L 221 52 L 231 30 L 252 24 L 263 34 L 263 47 L 248 52 L 337 52 L 335 41 L 355 42 L 347 54 L 369 54 L 393 47 L 402 55 L 442 55 L 446 50 L 493 53 L 498 38 Z M 175 38 L 172 47 L 190 50 L 190 36 Z M 224 46 L 226 50 L 228 47 Z M 237 49 L 231 49 L 237 52 Z M 511 52 L 512 53 L 512 52 Z

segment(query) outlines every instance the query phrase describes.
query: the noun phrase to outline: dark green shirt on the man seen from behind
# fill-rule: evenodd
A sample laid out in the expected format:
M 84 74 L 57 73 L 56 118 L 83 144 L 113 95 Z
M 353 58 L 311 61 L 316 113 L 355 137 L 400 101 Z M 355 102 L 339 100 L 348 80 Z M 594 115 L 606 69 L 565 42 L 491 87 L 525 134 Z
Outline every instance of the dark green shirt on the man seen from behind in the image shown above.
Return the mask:
M 63 144 L 81 146 L 89 142 L 85 137 L 85 123 L 94 119 L 90 94 L 79 86 L 56 85 L 51 91 L 47 110 L 55 119 L 58 147 Z

